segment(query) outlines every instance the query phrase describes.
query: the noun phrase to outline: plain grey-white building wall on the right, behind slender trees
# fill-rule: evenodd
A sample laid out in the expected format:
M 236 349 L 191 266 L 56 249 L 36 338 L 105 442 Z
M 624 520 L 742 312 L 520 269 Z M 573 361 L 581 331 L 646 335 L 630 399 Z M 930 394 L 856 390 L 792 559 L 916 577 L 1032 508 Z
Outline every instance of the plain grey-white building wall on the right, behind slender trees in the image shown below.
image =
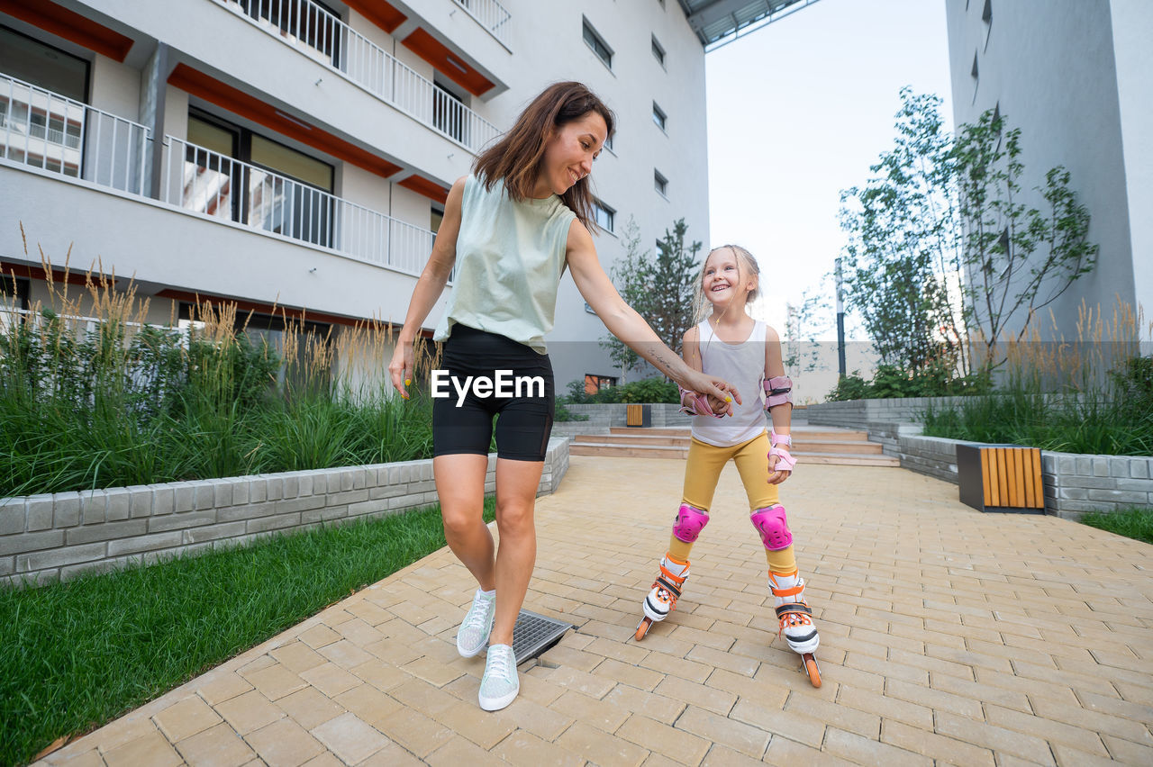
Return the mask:
M 1052 305 L 1061 333 L 1076 337 L 1083 299 L 1153 309 L 1153 3 L 945 2 L 955 123 L 1000 107 L 1022 130 L 1024 202 L 1043 210 L 1033 188 L 1063 165 L 1090 212 L 1098 264 Z

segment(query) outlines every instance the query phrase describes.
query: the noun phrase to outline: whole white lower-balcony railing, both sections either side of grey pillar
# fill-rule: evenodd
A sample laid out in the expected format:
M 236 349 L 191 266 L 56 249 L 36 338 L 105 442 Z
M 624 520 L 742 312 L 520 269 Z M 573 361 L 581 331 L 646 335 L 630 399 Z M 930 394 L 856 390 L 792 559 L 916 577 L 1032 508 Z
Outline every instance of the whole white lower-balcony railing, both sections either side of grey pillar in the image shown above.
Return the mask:
M 148 198 L 157 161 L 158 202 L 183 213 L 413 276 L 432 250 L 429 229 L 258 166 L 172 136 L 150 150 L 144 126 L 0 74 L 0 164 Z

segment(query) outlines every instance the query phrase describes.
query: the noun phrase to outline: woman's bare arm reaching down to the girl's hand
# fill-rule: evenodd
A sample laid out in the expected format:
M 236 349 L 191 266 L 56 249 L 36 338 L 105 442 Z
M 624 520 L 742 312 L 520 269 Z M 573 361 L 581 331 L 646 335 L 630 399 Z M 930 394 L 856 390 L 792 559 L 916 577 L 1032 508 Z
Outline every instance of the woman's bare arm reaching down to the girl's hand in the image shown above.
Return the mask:
M 604 326 L 636 354 L 653 363 L 673 381 L 699 394 L 724 400 L 730 393 L 740 402 L 740 394 L 724 379 L 693 370 L 670 349 L 645 318 L 625 303 L 596 257 L 593 236 L 580 221 L 568 228 L 566 258 L 576 289 L 593 307 Z

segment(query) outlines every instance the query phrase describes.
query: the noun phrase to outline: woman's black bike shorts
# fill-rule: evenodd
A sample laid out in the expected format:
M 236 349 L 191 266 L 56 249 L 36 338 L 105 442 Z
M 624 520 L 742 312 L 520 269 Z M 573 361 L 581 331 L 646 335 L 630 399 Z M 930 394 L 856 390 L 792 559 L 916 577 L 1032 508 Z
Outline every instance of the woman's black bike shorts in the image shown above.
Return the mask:
M 544 461 L 555 386 L 548 355 L 496 333 L 453 325 L 432 371 L 432 454 L 488 455 L 492 417 L 497 456 Z

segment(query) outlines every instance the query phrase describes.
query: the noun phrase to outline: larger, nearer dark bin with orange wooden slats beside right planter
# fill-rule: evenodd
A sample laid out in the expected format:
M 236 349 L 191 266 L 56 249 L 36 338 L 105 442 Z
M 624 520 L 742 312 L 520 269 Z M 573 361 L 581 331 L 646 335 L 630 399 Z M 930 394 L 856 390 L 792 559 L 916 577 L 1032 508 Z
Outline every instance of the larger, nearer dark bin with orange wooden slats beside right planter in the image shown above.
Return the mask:
M 958 445 L 960 502 L 978 511 L 1045 514 L 1040 448 Z

